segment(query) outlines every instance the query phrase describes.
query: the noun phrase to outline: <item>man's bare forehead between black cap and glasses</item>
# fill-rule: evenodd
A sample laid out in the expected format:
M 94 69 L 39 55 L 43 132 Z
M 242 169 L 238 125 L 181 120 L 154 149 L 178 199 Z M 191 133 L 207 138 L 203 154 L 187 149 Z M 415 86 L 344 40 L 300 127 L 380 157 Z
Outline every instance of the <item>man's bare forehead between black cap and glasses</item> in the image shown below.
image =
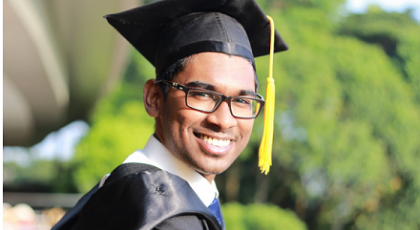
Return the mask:
M 255 72 L 250 61 L 224 53 L 204 52 L 195 54 L 174 81 L 188 84 L 200 81 L 214 86 L 216 91 L 253 90 Z

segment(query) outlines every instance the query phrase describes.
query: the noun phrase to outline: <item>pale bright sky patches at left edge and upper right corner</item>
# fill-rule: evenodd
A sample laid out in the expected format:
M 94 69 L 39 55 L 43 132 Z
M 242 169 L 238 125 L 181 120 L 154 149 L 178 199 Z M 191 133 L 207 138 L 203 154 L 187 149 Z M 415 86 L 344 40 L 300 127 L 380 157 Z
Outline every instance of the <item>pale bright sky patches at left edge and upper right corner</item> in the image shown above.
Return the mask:
M 420 22 L 420 0 L 347 0 L 345 7 L 351 13 L 364 13 L 371 4 L 379 5 L 384 11 L 405 12 L 414 8 L 413 17 Z M 69 160 L 79 140 L 87 134 L 88 125 L 82 121 L 73 122 L 31 148 L 3 147 L 3 161 L 15 161 L 29 165 L 36 159 Z

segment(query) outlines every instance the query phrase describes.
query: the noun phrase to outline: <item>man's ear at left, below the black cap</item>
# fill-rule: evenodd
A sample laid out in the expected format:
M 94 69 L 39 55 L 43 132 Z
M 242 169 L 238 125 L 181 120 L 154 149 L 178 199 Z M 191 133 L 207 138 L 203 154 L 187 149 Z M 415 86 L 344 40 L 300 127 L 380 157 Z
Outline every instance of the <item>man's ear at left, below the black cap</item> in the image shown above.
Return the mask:
M 149 79 L 143 90 L 144 108 L 151 117 L 159 116 L 163 104 L 163 93 L 155 82 L 155 79 Z

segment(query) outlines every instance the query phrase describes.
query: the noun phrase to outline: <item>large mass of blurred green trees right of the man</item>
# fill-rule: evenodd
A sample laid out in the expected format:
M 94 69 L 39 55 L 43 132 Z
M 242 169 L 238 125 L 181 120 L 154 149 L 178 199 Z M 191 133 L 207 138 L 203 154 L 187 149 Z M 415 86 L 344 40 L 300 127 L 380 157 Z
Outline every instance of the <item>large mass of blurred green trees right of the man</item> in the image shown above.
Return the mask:
M 290 46 L 275 57 L 273 167 L 267 177 L 249 168 L 256 167 L 257 119 L 257 136 L 234 165 L 242 176 L 217 178 L 224 198 L 291 208 L 313 229 L 418 226 L 420 69 L 411 46 L 418 47 L 419 25 L 383 12 L 376 24 L 370 14 L 336 24 L 316 8 L 269 14 Z M 393 23 L 385 26 L 387 16 Z M 360 36 L 369 33 L 398 35 L 395 55 L 381 36 Z M 257 67 L 264 90 L 267 58 Z

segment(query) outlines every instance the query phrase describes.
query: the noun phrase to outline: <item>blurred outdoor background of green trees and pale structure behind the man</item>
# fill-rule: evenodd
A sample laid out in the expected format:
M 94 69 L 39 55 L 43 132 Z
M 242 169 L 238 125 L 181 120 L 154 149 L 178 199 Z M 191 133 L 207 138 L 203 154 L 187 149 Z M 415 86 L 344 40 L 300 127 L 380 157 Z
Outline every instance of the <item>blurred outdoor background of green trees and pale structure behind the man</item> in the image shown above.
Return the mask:
M 153 133 L 154 68 L 102 18 L 149 2 L 3 1 L 3 229 L 49 229 Z M 419 229 L 420 1 L 258 2 L 290 50 L 270 173 L 260 116 L 216 178 L 227 229 Z

